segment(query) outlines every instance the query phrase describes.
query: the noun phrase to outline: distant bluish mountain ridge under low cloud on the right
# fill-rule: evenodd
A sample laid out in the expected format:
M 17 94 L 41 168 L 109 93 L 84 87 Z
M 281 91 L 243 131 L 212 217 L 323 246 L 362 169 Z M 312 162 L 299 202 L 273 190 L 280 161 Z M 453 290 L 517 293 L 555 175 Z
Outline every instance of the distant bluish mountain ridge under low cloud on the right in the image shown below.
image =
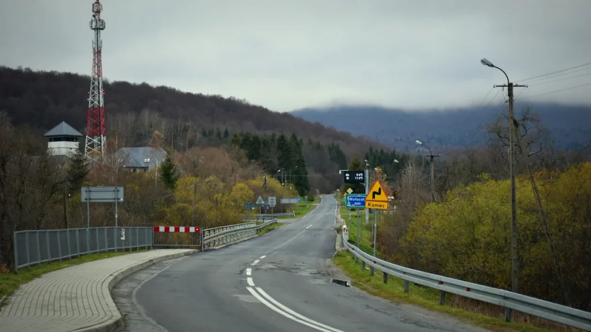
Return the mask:
M 291 113 L 406 152 L 414 150 L 416 139 L 433 145 L 430 147 L 437 151 L 447 151 L 486 144 L 486 125 L 502 114 L 505 105 L 417 111 L 376 105 L 339 105 L 303 108 Z M 516 101 L 515 116 L 521 115 L 525 108 L 540 115 L 542 125 L 550 131 L 557 148 L 576 149 L 591 139 L 588 125 L 591 106 Z

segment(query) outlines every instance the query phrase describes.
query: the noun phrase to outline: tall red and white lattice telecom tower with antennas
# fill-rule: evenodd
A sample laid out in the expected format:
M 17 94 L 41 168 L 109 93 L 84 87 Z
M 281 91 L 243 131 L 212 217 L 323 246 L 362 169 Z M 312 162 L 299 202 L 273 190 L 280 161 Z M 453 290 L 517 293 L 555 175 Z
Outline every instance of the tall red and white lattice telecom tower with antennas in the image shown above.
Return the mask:
M 102 157 L 105 151 L 105 102 L 103 99 L 103 66 L 102 40 L 100 31 L 105 30 L 105 21 L 100 19 L 103 6 L 99 0 L 92 4 L 90 29 L 95 31 L 92 40 L 92 76 L 90 76 L 90 92 L 88 93 L 88 118 L 86 120 L 85 155 L 94 160 Z

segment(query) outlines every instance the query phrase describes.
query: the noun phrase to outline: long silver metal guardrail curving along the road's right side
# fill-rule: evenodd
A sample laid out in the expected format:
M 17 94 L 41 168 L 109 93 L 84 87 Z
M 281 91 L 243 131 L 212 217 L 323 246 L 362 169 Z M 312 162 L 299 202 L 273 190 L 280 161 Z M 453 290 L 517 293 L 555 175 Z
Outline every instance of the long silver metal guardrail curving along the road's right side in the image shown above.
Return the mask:
M 408 292 L 409 282 L 414 282 L 415 284 L 439 289 L 439 304 L 441 305 L 445 302 L 446 292 L 449 292 L 505 307 L 506 321 L 511 320 L 511 310 L 517 310 L 571 327 L 591 331 L 591 313 L 587 311 L 528 297 L 504 289 L 473 284 L 472 282 L 405 268 L 404 266 L 382 261 L 363 252 L 345 239 L 345 233 L 343 233 L 342 239 L 345 248 L 352 253 L 352 258 L 361 259 L 363 268 L 365 268 L 365 264 L 367 263 L 372 268 L 384 272 L 384 282 L 388 281 L 388 275 L 394 275 L 403 279 L 405 292 Z

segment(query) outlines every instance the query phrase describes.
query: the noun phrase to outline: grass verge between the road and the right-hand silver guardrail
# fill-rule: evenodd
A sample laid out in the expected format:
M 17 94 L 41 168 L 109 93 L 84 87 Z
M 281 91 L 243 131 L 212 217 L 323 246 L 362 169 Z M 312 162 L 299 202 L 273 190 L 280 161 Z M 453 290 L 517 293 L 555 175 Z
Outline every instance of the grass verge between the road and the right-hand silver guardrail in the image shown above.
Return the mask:
M 450 314 L 467 323 L 476 324 L 493 331 L 551 331 L 527 324 L 506 323 L 505 321 L 498 318 L 472 313 L 460 308 L 454 308 L 450 305 L 452 296 L 447 296 L 446 304 L 439 305 L 439 291 L 437 291 L 437 289 L 417 287 L 411 283 L 408 293 L 405 293 L 404 281 L 402 279 L 389 275 L 388 283 L 384 284 L 381 271 L 376 271 L 374 276 L 369 274 L 369 267 L 363 271 L 361 269 L 361 263 L 355 263 L 355 259 L 351 259 L 351 254 L 348 251 L 336 253 L 335 257 L 333 257 L 333 263 L 335 263 L 336 266 L 339 266 L 345 275 L 351 279 L 351 284 L 353 286 L 363 289 L 363 291 L 366 291 L 369 294 L 385 298 L 386 300 L 397 303 L 404 302 L 408 304 L 420 305 L 421 307 L 427 308 L 428 310 Z

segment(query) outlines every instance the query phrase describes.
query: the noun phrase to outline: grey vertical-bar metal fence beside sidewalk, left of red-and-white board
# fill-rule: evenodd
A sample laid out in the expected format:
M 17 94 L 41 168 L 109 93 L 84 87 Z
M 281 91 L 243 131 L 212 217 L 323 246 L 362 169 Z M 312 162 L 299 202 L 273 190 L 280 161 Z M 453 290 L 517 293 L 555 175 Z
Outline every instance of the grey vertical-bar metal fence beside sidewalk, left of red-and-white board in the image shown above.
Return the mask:
M 152 227 L 20 230 L 13 233 L 14 269 L 118 250 L 152 247 Z

